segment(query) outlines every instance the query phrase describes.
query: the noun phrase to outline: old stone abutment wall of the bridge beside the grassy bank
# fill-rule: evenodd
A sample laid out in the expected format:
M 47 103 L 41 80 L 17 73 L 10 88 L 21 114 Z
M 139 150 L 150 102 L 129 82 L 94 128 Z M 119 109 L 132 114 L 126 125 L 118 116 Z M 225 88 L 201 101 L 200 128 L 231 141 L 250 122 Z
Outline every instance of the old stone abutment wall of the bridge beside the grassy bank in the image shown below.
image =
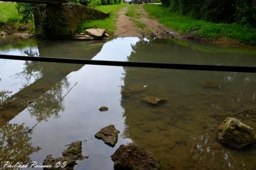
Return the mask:
M 54 35 L 64 38 L 72 37 L 81 22 L 105 19 L 109 16 L 94 8 L 79 4 L 40 4 L 36 5 L 34 10 L 37 33 L 40 33 L 39 24 L 45 15 L 49 15 L 52 21 L 58 18 L 63 19 L 63 30 L 55 32 Z

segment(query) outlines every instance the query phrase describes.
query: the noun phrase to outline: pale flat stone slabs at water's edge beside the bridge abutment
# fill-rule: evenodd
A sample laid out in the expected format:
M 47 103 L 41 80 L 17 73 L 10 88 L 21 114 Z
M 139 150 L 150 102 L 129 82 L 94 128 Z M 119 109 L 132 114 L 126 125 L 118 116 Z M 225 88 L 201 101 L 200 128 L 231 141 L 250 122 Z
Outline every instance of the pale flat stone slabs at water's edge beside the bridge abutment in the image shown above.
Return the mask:
M 103 37 L 109 37 L 105 29 L 91 28 L 91 29 L 85 30 L 85 33 L 79 33 L 79 34 L 76 33 L 73 39 L 94 40 L 94 39 L 102 39 Z

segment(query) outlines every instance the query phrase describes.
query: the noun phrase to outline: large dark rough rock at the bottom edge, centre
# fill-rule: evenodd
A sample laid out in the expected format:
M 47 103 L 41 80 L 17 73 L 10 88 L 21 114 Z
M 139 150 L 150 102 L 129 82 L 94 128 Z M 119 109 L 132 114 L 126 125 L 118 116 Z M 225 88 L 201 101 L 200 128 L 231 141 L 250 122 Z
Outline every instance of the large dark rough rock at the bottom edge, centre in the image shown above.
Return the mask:
M 153 154 L 134 143 L 121 145 L 111 156 L 115 162 L 115 170 L 155 170 L 159 169 L 158 162 Z

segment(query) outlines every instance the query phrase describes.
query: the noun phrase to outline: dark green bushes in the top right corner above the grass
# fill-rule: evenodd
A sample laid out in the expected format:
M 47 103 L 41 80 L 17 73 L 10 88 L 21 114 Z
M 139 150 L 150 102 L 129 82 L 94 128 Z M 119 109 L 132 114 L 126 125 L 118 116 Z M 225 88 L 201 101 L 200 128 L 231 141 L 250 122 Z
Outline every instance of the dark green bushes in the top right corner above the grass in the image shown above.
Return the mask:
M 217 23 L 256 25 L 256 1 L 252 0 L 161 0 L 173 12 Z

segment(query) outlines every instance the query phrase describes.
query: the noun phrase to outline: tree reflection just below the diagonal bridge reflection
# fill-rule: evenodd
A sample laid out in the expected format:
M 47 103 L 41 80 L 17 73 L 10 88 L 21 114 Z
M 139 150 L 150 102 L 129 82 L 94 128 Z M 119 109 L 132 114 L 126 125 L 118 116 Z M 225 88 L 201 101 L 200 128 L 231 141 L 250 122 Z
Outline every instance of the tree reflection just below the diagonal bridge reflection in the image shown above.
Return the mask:
M 35 116 L 38 122 L 47 121 L 50 117 L 58 118 L 59 112 L 63 112 L 65 109 L 63 106 L 64 88 L 69 88 L 67 78 L 55 84 L 43 96 L 30 104 L 28 108 L 30 115 Z

